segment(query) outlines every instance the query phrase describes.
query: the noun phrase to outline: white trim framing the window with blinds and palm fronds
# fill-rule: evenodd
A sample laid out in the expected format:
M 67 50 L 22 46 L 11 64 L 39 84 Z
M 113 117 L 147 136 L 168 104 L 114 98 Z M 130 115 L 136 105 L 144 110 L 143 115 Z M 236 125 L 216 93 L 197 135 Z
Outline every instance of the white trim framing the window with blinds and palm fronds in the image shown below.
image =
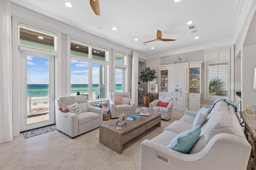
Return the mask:
M 204 50 L 204 100 L 211 100 L 211 101 L 215 101 L 218 98 L 225 98 L 224 96 L 217 96 L 214 98 L 214 96 L 212 96 L 213 98 L 210 98 L 208 96 L 208 51 L 213 51 L 213 50 L 218 50 L 218 49 L 224 49 L 224 48 L 230 48 L 230 59 L 229 59 L 229 96 L 228 100 L 234 101 L 234 45 L 227 45 L 227 46 L 222 46 L 222 47 L 218 47 L 218 48 L 212 48 L 212 49 L 205 49 Z

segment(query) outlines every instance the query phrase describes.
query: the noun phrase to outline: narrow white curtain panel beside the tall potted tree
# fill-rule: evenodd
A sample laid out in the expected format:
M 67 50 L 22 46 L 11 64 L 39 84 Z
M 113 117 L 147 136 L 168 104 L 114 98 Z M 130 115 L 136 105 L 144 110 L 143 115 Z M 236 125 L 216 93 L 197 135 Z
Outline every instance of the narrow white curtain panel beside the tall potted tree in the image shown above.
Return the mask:
M 132 54 L 132 101 L 138 106 L 138 71 L 139 57 L 138 51 L 133 50 Z

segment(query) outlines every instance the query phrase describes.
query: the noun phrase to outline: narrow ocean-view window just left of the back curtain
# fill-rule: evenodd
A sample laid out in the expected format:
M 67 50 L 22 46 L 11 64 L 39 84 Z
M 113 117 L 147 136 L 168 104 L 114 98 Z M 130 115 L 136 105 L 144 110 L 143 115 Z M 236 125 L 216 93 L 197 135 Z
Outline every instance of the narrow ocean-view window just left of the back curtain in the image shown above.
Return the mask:
M 125 55 L 115 54 L 115 67 L 116 67 L 116 84 L 115 84 L 115 92 L 124 92 L 126 91 L 125 81 L 126 81 L 126 59 Z

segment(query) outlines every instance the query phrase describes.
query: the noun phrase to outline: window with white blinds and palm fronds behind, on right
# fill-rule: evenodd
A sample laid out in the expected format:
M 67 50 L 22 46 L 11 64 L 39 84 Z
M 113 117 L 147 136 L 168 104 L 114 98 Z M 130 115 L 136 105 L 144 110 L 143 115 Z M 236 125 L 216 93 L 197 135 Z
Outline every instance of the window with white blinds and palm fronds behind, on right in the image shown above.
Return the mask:
M 230 99 L 230 48 L 206 51 L 205 98 Z

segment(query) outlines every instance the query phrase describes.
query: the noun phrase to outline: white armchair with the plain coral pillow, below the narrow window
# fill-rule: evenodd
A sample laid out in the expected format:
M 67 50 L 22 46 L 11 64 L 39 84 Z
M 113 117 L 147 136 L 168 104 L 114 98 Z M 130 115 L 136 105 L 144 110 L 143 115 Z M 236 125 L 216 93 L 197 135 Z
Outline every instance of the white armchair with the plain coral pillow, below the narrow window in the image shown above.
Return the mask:
M 113 102 L 113 96 L 122 96 L 122 104 L 116 105 Z M 130 116 L 136 113 L 136 104 L 132 102 L 131 95 L 128 92 L 113 92 L 109 94 L 110 114 L 111 118 L 117 118 L 118 115 L 124 113 Z

